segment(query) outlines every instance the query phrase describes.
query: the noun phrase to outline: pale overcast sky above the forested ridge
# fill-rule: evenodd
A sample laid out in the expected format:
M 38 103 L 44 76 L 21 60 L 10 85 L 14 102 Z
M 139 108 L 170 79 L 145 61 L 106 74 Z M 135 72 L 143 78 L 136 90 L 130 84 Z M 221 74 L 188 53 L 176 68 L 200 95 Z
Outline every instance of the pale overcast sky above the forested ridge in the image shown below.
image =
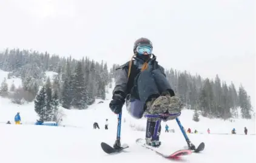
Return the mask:
M 122 64 L 148 37 L 164 68 L 244 85 L 255 106 L 253 0 L 1 0 L 0 50 Z

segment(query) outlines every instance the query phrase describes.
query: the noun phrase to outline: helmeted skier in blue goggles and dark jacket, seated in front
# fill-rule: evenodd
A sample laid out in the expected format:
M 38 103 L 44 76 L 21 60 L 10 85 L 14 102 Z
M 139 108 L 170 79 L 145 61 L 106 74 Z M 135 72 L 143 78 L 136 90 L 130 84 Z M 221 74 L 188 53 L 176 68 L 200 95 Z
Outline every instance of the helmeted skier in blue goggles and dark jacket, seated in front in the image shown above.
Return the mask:
M 116 69 L 118 75 L 109 107 L 118 114 L 126 103 L 130 115 L 138 119 L 145 114 L 175 114 L 167 118 L 147 118 L 146 144 L 159 147 L 161 120 L 177 118 L 183 104 L 175 96 L 164 68 L 158 65 L 152 50 L 153 45 L 149 39 L 141 37 L 135 41 L 132 59 Z M 120 144 L 114 144 L 114 147 L 120 147 Z

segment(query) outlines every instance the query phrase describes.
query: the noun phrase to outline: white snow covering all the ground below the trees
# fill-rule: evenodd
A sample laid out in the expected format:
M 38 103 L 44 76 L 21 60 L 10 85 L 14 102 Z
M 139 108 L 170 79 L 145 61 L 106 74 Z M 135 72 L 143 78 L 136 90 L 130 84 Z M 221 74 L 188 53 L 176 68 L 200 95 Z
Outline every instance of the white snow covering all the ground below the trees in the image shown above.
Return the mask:
M 108 92 L 111 93 L 112 90 L 109 89 Z M 107 100 L 96 99 L 95 104 L 86 110 L 62 108 L 65 117 L 62 126 L 58 127 L 32 125 L 38 118 L 33 103 L 19 106 L 6 98 L 0 98 L 0 162 L 171 162 L 135 144 L 136 138 L 145 136 L 145 132 L 140 130 L 146 127 L 146 120 L 130 117 L 125 107 L 121 142 L 130 147 L 118 155 L 104 153 L 100 143 L 107 142 L 112 145 L 115 142 L 117 125 L 117 116 L 109 109 L 111 94 L 107 94 L 106 98 Z M 99 101 L 104 103 L 98 104 Z M 13 124 L 18 111 L 21 112 L 22 125 Z M 231 123 L 200 117 L 200 122 L 195 123 L 192 121 L 192 114 L 190 110 L 183 110 L 180 121 L 185 129 L 190 127 L 192 131 L 198 130 L 199 134 L 188 135 L 190 141 L 195 145 L 203 141 L 206 148 L 203 153 L 184 157 L 184 162 L 256 162 L 254 121 L 235 119 Z M 106 119 L 109 121 L 109 130 L 104 130 Z M 12 124 L 5 124 L 8 120 Z M 93 129 L 94 122 L 99 124 L 100 129 Z M 175 133 L 164 133 L 165 123 L 162 123 L 163 145 L 159 150 L 169 154 L 183 149 L 186 141 L 175 121 L 167 124 L 170 129 L 175 129 Z M 244 126 L 248 128 L 249 135 L 243 135 Z M 234 127 L 241 135 L 230 134 Z M 215 134 L 207 134 L 207 128 Z

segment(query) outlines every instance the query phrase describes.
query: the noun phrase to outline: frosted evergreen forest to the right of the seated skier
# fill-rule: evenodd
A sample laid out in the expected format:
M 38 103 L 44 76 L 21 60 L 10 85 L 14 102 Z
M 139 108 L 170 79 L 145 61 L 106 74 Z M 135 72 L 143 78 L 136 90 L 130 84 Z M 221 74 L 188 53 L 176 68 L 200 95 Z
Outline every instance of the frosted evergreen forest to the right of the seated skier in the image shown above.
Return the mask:
M 120 65 L 113 65 L 110 75 L 116 78 L 115 69 Z M 194 110 L 194 121 L 199 121 L 199 115 L 207 118 L 237 118 L 241 110 L 241 117 L 252 118 L 251 97 L 243 85 L 237 89 L 234 83 L 227 85 L 216 75 L 215 79 L 202 78 L 200 75 L 191 75 L 187 71 L 166 69 L 167 80 L 175 94 L 181 98 L 187 109 Z M 238 109 L 240 108 L 240 110 Z

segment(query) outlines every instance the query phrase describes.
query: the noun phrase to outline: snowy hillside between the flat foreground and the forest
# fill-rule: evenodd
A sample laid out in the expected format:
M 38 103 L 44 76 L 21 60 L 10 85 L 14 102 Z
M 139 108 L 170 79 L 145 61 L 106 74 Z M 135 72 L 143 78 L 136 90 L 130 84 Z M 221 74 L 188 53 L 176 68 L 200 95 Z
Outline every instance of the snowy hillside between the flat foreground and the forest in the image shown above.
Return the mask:
M 7 72 L 0 71 L 1 77 L 0 80 L 4 77 L 7 77 Z M 56 72 L 47 71 L 45 72 L 45 78 L 53 78 Z M 8 79 L 7 82 L 10 84 L 15 81 L 15 86 L 21 85 L 21 80 L 19 78 Z M 114 85 L 114 83 L 112 83 Z M 95 103 L 89 106 L 86 110 L 63 110 L 64 117 L 62 118 L 62 125 L 70 127 L 89 127 L 92 126 L 93 122 L 98 122 L 99 125 L 103 124 L 106 119 L 109 121 L 115 122 L 115 115 L 109 109 L 109 102 L 112 97 L 112 89 L 107 88 L 106 100 L 96 99 Z M 99 101 L 104 101 L 104 103 L 99 103 Z M 11 121 L 13 123 L 14 116 L 16 112 L 21 112 L 21 118 L 23 124 L 34 124 L 38 119 L 38 115 L 34 110 L 34 103 L 25 103 L 23 105 L 13 104 L 7 98 L 0 98 L 1 109 L 0 109 L 0 122 L 6 123 L 6 121 Z M 126 108 L 123 107 L 123 117 L 126 119 L 127 126 L 131 127 L 133 130 L 144 130 L 146 128 L 146 119 L 136 120 L 127 113 Z M 255 134 L 255 123 L 254 120 L 244 120 L 241 117 L 230 118 L 229 120 L 220 120 L 217 118 L 209 119 L 205 117 L 199 117 L 200 121 L 197 123 L 192 121 L 193 110 L 184 109 L 180 116 L 180 121 L 187 129 L 190 127 L 192 131 L 195 129 L 199 133 L 206 133 L 206 130 L 211 129 L 212 133 L 230 133 L 233 128 L 237 130 L 238 133 L 243 134 L 243 128 L 247 127 L 249 134 Z M 91 115 L 91 116 L 88 116 Z M 95 116 L 103 115 L 103 116 Z M 231 122 L 232 121 L 232 122 Z M 163 123 L 164 124 L 164 123 Z M 178 126 L 175 121 L 169 121 L 167 124 L 170 126 L 170 129 L 175 129 L 175 132 L 178 132 Z M 102 125 L 101 125 L 102 126 Z M 112 126 L 110 126 L 112 127 Z M 116 126 L 113 126 L 115 128 Z

